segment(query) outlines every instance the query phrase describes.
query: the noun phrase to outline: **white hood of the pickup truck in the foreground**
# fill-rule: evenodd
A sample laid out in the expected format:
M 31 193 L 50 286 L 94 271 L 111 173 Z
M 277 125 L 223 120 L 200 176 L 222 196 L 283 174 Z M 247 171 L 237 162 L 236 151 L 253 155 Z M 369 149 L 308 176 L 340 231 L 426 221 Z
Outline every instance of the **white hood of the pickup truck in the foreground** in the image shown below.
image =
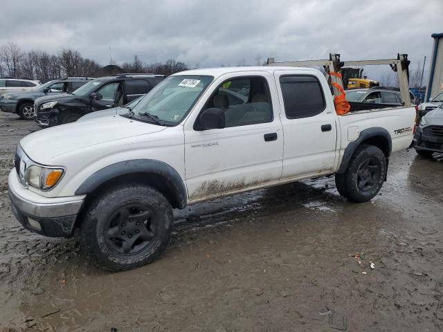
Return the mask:
M 106 116 L 36 131 L 22 138 L 20 145 L 35 162 L 51 165 L 51 160 L 61 154 L 112 140 L 147 135 L 165 128 L 123 116 Z

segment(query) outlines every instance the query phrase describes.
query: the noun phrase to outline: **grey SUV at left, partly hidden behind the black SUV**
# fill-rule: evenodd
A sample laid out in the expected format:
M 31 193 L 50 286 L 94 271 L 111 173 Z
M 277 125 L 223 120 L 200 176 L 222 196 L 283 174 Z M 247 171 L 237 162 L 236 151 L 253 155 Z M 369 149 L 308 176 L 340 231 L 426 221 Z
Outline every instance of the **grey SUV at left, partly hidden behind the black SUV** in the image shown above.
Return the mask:
M 66 77 L 60 80 L 46 82 L 31 91 L 3 93 L 3 95 L 0 96 L 0 110 L 3 112 L 17 113 L 25 120 L 33 120 L 34 102 L 37 98 L 55 93 L 71 93 L 89 80 L 93 80 L 93 78 Z

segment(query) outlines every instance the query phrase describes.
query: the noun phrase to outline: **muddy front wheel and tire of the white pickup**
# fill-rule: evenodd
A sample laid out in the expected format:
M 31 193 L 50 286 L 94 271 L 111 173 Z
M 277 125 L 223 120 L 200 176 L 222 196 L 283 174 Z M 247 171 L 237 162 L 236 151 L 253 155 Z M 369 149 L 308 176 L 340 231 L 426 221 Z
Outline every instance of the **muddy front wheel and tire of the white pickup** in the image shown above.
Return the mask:
M 172 208 L 152 187 L 108 190 L 91 201 L 83 215 L 82 248 L 99 268 L 121 271 L 149 264 L 170 241 Z

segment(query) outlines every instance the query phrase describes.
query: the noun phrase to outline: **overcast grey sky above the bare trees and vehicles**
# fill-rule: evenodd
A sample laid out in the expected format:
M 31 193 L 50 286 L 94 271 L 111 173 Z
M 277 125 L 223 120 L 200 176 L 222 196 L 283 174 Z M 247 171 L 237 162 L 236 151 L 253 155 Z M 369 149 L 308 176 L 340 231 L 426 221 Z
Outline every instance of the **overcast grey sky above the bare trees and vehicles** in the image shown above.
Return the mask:
M 257 56 L 291 61 L 322 59 L 329 52 L 343 60 L 401 52 L 413 64 L 424 55 L 429 63 L 431 34 L 443 33 L 443 0 L 1 3 L 0 44 L 50 53 L 75 48 L 103 65 L 109 64 L 109 46 L 117 64 L 138 55 L 148 63 L 236 66 L 243 58 L 255 64 Z

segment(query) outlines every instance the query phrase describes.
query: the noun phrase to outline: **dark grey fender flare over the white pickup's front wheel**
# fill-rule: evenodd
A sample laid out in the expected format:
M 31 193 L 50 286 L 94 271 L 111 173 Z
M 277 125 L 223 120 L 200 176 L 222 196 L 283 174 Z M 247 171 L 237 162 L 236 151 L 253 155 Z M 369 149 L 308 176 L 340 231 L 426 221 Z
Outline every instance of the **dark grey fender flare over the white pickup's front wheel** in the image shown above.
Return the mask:
M 171 194 L 171 205 L 173 208 L 183 209 L 187 205 L 186 187 L 179 173 L 170 165 L 159 160 L 134 159 L 108 165 L 87 178 L 75 195 L 90 194 L 100 185 L 129 174 L 150 174 L 162 178 L 162 183 Z

